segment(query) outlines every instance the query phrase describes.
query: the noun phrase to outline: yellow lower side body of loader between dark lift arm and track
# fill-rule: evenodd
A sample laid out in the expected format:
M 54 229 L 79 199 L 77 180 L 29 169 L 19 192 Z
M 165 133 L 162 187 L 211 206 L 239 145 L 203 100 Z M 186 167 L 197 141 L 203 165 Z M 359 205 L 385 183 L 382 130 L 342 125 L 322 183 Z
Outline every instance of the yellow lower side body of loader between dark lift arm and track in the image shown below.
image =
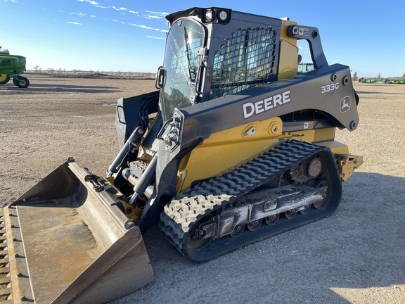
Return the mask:
M 295 139 L 326 146 L 338 154 L 349 154 L 345 144 L 334 140 L 335 128 L 310 129 L 297 132 L 282 132 L 283 123 L 280 118 L 271 118 L 262 122 L 251 122 L 233 127 L 211 135 L 189 153 L 179 165 L 176 183 L 176 195 L 186 191 L 191 184 L 227 172 L 260 153 L 279 144 L 281 139 Z M 255 129 L 255 134 L 246 135 Z M 340 174 L 347 176 L 353 165 L 340 166 Z

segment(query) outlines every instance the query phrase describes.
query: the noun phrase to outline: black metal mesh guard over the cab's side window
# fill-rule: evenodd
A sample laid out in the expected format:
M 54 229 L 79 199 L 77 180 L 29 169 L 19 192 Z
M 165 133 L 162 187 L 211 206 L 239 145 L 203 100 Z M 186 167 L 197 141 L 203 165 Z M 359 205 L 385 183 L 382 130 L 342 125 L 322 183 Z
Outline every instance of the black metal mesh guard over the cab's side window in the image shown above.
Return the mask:
M 215 53 L 210 99 L 275 80 L 276 30 L 239 29 Z

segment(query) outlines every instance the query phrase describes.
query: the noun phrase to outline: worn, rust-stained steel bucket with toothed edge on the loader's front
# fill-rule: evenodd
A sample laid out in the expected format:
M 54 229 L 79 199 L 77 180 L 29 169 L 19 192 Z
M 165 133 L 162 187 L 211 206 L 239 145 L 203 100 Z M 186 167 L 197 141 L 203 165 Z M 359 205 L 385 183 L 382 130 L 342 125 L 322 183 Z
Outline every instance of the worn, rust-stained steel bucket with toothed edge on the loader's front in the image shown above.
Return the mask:
M 105 303 L 154 279 L 120 193 L 75 160 L 0 214 L 0 302 Z

